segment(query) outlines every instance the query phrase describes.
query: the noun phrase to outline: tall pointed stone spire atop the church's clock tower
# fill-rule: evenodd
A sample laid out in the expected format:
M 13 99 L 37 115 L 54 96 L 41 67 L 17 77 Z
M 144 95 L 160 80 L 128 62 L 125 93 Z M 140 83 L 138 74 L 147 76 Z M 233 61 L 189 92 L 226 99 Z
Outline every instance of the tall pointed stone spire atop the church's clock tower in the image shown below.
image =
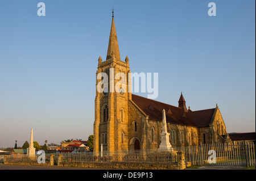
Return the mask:
M 109 36 L 109 47 L 108 47 L 108 53 L 106 56 L 106 60 L 109 60 L 110 58 L 115 58 L 117 60 L 121 60 L 120 53 L 119 53 L 119 47 L 118 47 L 118 41 L 117 41 L 117 32 L 115 31 L 115 22 L 114 22 L 114 9 L 112 11 L 112 24 L 110 29 L 110 36 Z

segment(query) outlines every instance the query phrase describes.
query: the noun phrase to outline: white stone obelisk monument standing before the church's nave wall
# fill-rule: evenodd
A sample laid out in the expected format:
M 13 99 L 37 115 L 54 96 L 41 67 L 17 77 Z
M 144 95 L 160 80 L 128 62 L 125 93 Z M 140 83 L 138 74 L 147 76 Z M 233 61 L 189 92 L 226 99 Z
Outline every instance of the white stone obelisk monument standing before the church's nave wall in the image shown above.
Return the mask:
M 167 123 L 166 123 L 166 111 L 163 109 L 163 128 L 161 136 L 161 143 L 158 150 L 172 150 L 172 145 L 169 141 L 170 133 L 167 132 Z

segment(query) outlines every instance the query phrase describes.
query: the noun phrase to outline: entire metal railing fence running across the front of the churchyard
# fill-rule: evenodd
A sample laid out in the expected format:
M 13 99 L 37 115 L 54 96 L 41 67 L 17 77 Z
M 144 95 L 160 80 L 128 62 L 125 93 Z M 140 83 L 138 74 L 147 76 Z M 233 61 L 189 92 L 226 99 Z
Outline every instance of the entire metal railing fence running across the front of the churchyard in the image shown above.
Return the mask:
M 146 163 L 175 163 L 177 151 L 184 151 L 185 161 L 192 165 L 246 165 L 255 166 L 255 145 L 253 142 L 244 142 L 241 145 L 228 144 L 204 144 L 199 146 L 174 147 L 173 150 L 127 150 L 96 153 L 93 151 L 80 151 L 79 153 L 61 153 L 61 162 L 146 162 Z M 51 154 L 46 154 L 46 162 Z M 27 155 L 8 155 L 7 161 L 37 161 Z M 59 154 L 55 154 L 57 162 Z

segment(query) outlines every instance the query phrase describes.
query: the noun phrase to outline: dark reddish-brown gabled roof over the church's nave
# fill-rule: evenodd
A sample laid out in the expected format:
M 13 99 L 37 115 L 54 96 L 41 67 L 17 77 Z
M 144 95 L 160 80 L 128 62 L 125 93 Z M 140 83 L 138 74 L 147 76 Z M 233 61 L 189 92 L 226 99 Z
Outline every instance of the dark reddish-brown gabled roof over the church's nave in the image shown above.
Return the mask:
M 179 107 L 134 94 L 132 94 L 132 100 L 146 115 L 149 116 L 150 120 L 162 121 L 162 112 L 164 109 L 166 110 L 167 123 L 189 125 L 192 127 L 209 127 L 215 111 L 215 108 L 213 108 L 209 110 L 184 112 L 183 109 Z

